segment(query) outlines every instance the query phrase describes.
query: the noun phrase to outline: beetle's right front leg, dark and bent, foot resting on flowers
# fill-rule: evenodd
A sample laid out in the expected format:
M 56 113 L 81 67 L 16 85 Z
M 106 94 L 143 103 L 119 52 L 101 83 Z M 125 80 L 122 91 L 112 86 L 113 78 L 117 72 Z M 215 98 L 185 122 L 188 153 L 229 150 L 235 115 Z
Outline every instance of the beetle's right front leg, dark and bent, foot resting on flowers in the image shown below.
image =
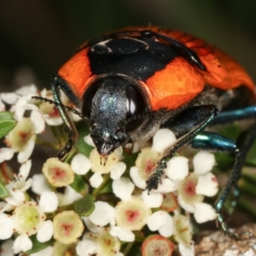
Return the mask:
M 147 187 L 148 193 L 151 189 L 157 189 L 158 185 L 160 183 L 161 177 L 164 174 L 164 170 L 166 168 L 166 161 L 170 158 L 172 158 L 173 154 L 177 152 L 178 149 L 183 148 L 183 146 L 187 145 L 193 139 L 203 131 L 207 125 L 214 119 L 214 117 L 217 114 L 217 108 L 215 105 L 204 105 L 204 106 L 197 106 L 194 108 L 189 108 L 183 111 L 181 113 L 176 121 L 176 125 L 179 125 L 182 129 L 185 129 L 184 127 L 187 127 L 189 122 L 193 122 L 193 127 L 191 127 L 190 131 L 184 131 L 180 134 L 182 137 L 179 137 L 177 142 L 172 145 L 171 148 L 168 148 L 166 152 L 164 153 L 164 156 L 157 162 L 157 165 L 153 171 L 153 174 L 148 178 L 147 180 Z M 196 121 L 195 121 L 196 120 Z M 175 121 L 172 120 L 171 123 L 174 123 Z M 183 125 L 184 123 L 187 124 Z M 166 127 L 168 125 L 168 122 L 166 122 L 163 127 Z

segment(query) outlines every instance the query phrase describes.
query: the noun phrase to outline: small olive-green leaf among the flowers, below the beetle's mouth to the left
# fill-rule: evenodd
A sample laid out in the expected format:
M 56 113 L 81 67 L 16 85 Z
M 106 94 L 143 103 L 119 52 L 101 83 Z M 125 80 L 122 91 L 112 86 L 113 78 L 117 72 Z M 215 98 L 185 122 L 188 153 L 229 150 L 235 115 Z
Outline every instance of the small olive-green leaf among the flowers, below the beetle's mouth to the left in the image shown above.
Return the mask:
M 95 209 L 94 197 L 92 195 L 85 195 L 83 198 L 74 202 L 74 210 L 79 216 L 89 216 Z

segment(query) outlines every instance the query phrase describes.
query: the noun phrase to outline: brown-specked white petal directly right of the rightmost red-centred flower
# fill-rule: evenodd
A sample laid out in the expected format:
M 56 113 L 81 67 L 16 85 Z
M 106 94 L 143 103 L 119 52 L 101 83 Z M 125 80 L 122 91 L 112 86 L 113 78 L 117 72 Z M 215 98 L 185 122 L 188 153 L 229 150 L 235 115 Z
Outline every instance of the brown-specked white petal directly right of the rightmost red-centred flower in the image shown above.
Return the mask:
M 218 182 L 212 172 L 208 172 L 205 175 L 198 177 L 197 184 L 195 186 L 195 193 L 197 195 L 213 196 L 218 192 Z

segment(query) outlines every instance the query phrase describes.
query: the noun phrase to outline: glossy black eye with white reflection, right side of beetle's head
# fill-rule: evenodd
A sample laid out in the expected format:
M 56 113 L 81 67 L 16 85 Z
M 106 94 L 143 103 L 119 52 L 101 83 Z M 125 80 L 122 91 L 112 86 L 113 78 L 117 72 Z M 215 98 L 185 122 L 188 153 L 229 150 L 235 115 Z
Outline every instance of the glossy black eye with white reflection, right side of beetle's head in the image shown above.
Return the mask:
M 135 86 L 128 85 L 126 87 L 126 96 L 127 119 L 137 114 L 145 112 L 147 104 L 144 100 L 142 93 L 139 90 L 137 90 Z M 131 120 L 131 122 L 127 123 L 126 125 L 126 131 L 136 131 L 143 125 L 144 121 L 145 118 Z

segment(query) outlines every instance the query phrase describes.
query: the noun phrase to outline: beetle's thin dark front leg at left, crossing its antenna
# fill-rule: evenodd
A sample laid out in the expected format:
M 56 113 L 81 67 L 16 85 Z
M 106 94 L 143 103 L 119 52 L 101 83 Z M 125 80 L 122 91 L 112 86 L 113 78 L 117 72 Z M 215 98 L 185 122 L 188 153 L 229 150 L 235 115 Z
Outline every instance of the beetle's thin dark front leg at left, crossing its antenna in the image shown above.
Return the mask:
M 67 153 L 69 153 L 72 150 L 73 145 L 74 143 L 76 143 L 79 136 L 78 136 L 78 131 L 75 125 L 73 125 L 73 121 L 70 119 L 65 109 L 61 107 L 61 98 L 60 98 L 61 85 L 57 83 L 57 79 L 54 79 L 53 84 L 51 85 L 51 89 L 53 91 L 55 102 L 60 103 L 60 105 L 58 105 L 57 108 L 61 114 L 61 118 L 63 119 L 63 123 L 65 125 L 65 131 L 67 131 L 67 143 L 64 146 L 64 148 L 62 148 L 61 151 L 57 154 L 57 157 L 60 160 L 64 160 Z

